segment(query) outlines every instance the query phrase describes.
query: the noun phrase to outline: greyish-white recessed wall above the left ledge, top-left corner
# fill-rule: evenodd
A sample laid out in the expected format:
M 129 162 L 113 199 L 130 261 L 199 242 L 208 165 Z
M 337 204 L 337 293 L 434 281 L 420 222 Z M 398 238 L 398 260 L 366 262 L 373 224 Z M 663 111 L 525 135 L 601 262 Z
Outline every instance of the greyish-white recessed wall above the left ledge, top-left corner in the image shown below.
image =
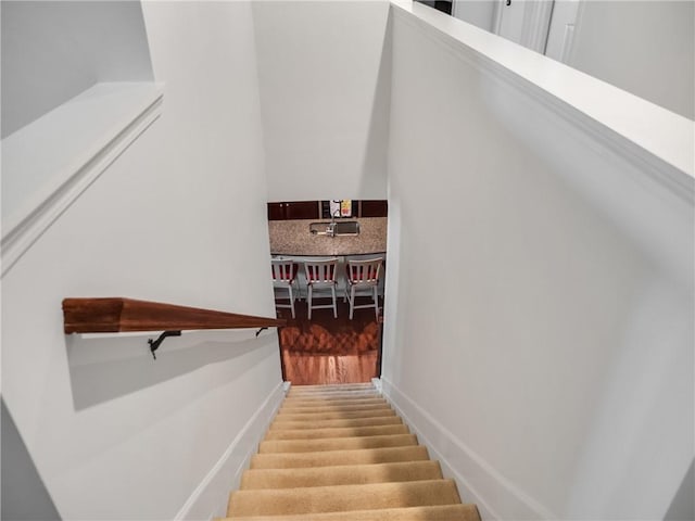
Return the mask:
M 3 1 L 2 137 L 98 81 L 151 80 L 139 1 Z

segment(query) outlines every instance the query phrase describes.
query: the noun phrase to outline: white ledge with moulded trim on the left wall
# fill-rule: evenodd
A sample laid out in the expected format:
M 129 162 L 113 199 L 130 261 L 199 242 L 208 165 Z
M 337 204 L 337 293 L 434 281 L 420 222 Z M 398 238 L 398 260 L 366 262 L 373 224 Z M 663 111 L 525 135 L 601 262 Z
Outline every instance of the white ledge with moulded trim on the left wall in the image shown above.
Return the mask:
M 123 98 L 114 94 L 118 89 Z M 136 90 L 137 89 L 137 90 Z M 134 96 L 134 90 L 136 90 Z M 105 91 L 105 92 L 104 92 Z M 84 112 L 94 111 L 94 103 L 80 102 L 102 97 L 103 117 L 94 117 L 94 128 L 85 124 Z M 12 215 L 3 216 L 2 276 L 24 255 L 46 230 L 94 182 L 162 113 L 161 84 L 97 84 L 74 100 L 61 105 L 34 124 L 2 140 L 3 177 L 21 176 L 23 171 L 40 173 L 48 181 L 31 193 Z M 119 103 L 121 102 L 121 103 Z M 87 107 L 85 109 L 86 105 Z M 113 113 L 113 114 L 112 114 Z M 124 116 L 125 114 L 125 116 Z M 116 120 L 113 120 L 117 118 Z M 109 122 L 104 124 L 104 120 Z M 65 149 L 76 156 L 53 154 L 42 160 L 46 143 L 62 139 L 73 129 L 93 141 L 71 143 Z M 108 128 L 103 128 L 108 125 Z M 71 149 L 78 149 L 77 152 Z M 63 153 L 63 154 L 65 154 Z M 7 169 L 5 169 L 7 168 Z M 7 179 L 7 177 L 5 177 Z

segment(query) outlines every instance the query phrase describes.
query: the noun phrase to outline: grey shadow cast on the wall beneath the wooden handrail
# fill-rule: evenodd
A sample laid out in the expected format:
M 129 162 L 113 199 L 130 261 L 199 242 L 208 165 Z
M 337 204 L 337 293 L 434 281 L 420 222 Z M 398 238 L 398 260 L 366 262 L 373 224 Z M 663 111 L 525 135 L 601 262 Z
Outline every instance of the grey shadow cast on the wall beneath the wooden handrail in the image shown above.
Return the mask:
M 265 358 L 277 352 L 274 334 L 255 338 L 253 331 L 249 330 L 243 331 L 242 339 L 235 339 L 240 333 L 231 331 L 195 331 L 191 334 L 197 340 L 192 344 L 188 334 L 166 339 L 156 352 L 156 360 L 150 353 L 147 335 L 100 339 L 84 339 L 76 334 L 67 336 L 75 410 L 157 385 L 211 364 L 235 359 L 230 373 L 226 373 L 225 381 L 229 381 L 257 364 L 257 356 Z M 257 356 L 245 356 L 252 352 L 257 352 Z

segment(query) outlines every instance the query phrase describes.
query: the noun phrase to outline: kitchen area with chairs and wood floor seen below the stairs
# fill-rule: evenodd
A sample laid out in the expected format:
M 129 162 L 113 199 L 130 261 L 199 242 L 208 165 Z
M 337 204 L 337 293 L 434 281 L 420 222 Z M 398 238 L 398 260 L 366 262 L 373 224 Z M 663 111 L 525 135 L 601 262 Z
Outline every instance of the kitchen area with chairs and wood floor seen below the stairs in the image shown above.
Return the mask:
M 278 332 L 286 381 L 380 374 L 387 219 L 383 200 L 268 203 L 276 308 L 288 320 Z

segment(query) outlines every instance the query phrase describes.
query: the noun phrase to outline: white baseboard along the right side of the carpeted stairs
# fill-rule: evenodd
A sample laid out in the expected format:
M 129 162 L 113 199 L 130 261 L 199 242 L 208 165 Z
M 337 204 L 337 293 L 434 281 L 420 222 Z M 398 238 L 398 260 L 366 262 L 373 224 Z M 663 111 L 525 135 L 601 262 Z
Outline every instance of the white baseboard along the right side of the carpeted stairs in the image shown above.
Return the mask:
M 559 519 L 383 377 L 381 386 L 430 457 L 440 461 L 444 475 L 456 481 L 462 500 L 475 503 L 483 520 Z

